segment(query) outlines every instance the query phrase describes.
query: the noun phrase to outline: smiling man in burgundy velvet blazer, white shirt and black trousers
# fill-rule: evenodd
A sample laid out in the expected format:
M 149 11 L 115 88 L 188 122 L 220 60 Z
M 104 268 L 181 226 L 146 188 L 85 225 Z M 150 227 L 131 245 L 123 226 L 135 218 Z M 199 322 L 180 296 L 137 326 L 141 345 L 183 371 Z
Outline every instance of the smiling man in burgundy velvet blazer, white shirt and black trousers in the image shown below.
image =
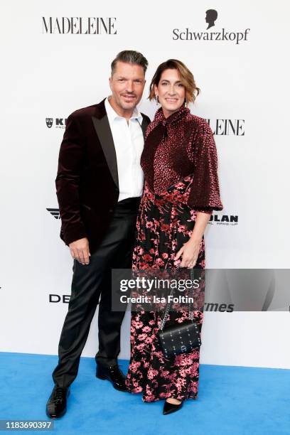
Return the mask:
M 147 60 L 125 50 L 112 62 L 112 95 L 68 117 L 55 180 L 62 220 L 60 237 L 74 259 L 70 304 L 58 346 L 55 387 L 46 413 L 66 412 L 70 384 L 99 304 L 96 376 L 127 391 L 119 369 L 120 328 L 124 311 L 112 311 L 112 269 L 131 268 L 136 215 L 144 175 L 140 156 L 150 119 L 141 100 Z M 100 299 L 100 301 L 99 301 Z M 96 384 L 97 387 L 97 384 Z

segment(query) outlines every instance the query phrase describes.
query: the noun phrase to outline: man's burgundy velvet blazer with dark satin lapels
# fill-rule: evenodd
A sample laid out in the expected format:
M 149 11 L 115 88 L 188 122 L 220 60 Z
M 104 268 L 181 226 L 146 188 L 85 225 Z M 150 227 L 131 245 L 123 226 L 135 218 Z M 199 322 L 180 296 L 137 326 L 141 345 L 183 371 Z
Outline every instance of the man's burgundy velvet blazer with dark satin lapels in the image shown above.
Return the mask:
M 142 114 L 145 136 L 150 119 Z M 119 198 L 117 158 L 104 100 L 68 117 L 55 179 L 60 237 L 66 245 L 87 237 L 100 244 Z

